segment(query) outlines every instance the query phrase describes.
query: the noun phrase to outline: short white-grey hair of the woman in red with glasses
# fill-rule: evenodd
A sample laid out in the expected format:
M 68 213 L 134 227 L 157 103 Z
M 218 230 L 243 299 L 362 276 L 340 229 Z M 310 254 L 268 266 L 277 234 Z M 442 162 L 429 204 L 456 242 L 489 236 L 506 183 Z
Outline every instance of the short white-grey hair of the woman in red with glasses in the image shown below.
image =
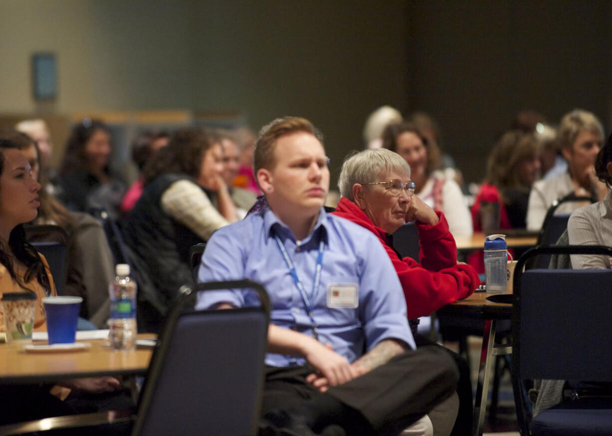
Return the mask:
M 373 183 L 379 175 L 398 173 L 410 177 L 410 165 L 394 151 L 386 148 L 364 150 L 349 154 L 342 164 L 338 188 L 342 197 L 351 201 L 353 198 L 353 185 L 356 183 Z

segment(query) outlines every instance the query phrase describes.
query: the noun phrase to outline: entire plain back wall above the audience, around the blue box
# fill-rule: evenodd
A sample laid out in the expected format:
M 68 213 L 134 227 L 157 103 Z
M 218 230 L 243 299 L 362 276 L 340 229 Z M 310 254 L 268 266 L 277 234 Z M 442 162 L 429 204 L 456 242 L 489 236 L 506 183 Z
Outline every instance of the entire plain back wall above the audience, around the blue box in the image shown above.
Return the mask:
M 282 115 L 326 135 L 332 182 L 371 110 L 422 109 L 480 181 L 517 110 L 611 115 L 607 0 L 2 0 L 0 112 L 184 109 Z M 32 98 L 34 51 L 58 56 L 59 96 Z

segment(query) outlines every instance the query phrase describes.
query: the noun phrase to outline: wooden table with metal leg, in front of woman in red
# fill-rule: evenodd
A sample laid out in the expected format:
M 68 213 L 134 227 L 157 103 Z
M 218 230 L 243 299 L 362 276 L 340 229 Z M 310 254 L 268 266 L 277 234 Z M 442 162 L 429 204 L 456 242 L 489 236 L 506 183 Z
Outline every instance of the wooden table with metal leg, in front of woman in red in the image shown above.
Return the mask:
M 482 436 L 487 409 L 487 394 L 491 379 L 491 361 L 493 356 L 512 353 L 512 345 L 495 345 L 496 323 L 499 320 L 512 318 L 512 304 L 493 303 L 487 300 L 485 292 L 474 292 L 466 299 L 449 304 L 438 310 L 438 314 L 460 318 L 476 318 L 485 321 L 482 333 L 482 351 L 474 400 L 474 420 L 472 421 L 472 436 Z

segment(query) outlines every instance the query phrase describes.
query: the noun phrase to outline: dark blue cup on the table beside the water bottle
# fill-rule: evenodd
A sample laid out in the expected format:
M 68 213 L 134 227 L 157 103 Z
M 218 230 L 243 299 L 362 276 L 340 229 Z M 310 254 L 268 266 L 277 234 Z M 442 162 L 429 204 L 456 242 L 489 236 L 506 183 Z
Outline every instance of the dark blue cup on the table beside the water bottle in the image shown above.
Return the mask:
M 73 296 L 45 297 L 42 299 L 47 314 L 49 345 L 74 344 L 81 301 L 83 301 L 83 298 Z

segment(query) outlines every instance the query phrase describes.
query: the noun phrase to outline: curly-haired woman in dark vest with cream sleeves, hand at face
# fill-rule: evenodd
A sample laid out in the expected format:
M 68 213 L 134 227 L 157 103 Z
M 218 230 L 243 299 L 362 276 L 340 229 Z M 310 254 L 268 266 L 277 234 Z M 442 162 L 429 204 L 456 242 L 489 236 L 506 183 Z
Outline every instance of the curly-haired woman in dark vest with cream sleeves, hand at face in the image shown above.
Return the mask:
M 138 331 L 158 331 L 184 284 L 195 284 L 189 249 L 236 221 L 222 178 L 223 151 L 202 129 L 177 130 L 144 168 L 144 191 L 125 242 L 138 273 Z

